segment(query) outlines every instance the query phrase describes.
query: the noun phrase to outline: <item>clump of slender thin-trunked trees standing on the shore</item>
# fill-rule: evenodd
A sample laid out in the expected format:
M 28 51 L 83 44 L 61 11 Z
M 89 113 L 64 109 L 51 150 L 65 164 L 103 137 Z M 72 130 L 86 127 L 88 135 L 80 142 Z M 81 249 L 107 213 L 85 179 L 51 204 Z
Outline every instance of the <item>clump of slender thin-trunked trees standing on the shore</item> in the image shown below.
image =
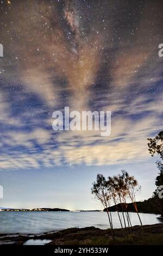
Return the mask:
M 115 204 L 115 208 L 117 210 L 118 218 L 120 220 L 123 231 L 123 224 L 117 207 L 117 204 L 121 205 L 126 236 L 128 236 L 128 230 L 131 227 L 130 216 L 127 210 L 128 201 L 133 203 L 136 214 L 139 216 L 139 220 L 142 226 L 141 218 L 136 205 L 136 194 L 140 191 L 140 188 L 141 187 L 139 186 L 134 176 L 130 176 L 125 170 L 122 170 L 122 174 L 114 175 L 113 177 L 109 176 L 108 180 L 106 180 L 102 174 L 98 174 L 96 182 L 92 184 L 92 194 L 94 194 L 95 198 L 101 202 L 108 214 L 113 239 L 115 239 L 115 235 L 112 224 L 111 211 L 109 210 L 111 203 Z M 126 225 L 126 220 L 128 222 L 128 228 Z

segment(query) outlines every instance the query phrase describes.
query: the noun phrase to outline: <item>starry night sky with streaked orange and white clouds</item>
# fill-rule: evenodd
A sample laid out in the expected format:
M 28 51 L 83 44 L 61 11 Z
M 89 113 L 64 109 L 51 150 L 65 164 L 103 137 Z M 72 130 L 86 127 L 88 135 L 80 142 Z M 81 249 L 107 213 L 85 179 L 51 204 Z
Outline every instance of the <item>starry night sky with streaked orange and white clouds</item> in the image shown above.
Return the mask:
M 163 1 L 1 1 L 0 185 L 4 207 L 100 209 L 97 173 L 134 174 L 147 199 L 162 130 Z M 52 114 L 111 111 L 111 135 L 54 131 Z

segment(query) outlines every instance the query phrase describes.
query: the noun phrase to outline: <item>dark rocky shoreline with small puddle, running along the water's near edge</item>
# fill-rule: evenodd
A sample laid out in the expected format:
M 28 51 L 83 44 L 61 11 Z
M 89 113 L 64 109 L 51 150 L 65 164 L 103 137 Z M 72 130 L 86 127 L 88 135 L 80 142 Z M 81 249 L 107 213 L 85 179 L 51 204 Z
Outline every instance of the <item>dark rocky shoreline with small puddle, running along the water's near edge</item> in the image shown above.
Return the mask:
M 41 235 L 0 234 L 0 245 L 163 245 L 163 223 L 143 225 L 145 240 L 142 239 L 140 225 L 130 228 L 127 239 L 122 228 L 115 229 L 116 241 L 111 237 L 111 229 L 95 227 L 68 228 Z

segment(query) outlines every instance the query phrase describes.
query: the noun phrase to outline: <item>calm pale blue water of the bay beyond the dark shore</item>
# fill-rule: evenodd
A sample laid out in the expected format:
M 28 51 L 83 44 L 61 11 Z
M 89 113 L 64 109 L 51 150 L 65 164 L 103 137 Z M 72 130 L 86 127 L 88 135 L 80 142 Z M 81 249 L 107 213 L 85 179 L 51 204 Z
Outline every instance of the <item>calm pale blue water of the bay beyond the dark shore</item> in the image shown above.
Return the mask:
M 140 214 L 142 223 L 161 223 L 159 215 Z M 139 225 L 135 213 L 130 213 L 132 225 Z M 112 212 L 114 228 L 120 228 L 116 212 Z M 109 228 L 106 212 L 0 212 L 0 233 L 42 234 L 72 227 Z

